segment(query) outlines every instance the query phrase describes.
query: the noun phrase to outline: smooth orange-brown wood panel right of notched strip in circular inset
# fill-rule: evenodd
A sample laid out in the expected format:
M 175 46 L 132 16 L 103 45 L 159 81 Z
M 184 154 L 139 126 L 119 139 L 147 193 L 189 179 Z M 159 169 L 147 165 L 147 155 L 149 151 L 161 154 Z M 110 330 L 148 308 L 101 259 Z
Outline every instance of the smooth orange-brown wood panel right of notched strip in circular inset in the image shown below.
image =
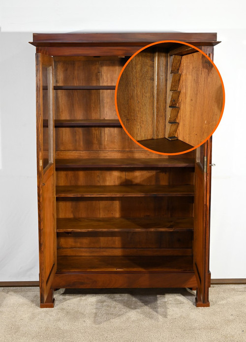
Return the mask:
M 177 136 L 196 146 L 212 133 L 219 119 L 223 103 L 222 85 L 213 64 L 201 53 L 183 56 L 180 73 Z

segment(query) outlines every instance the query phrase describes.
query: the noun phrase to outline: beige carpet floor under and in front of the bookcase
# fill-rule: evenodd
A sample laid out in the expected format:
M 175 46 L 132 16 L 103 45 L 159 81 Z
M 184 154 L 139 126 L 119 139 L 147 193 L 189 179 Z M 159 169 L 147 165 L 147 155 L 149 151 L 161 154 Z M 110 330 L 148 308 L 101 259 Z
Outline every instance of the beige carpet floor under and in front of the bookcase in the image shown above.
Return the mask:
M 210 308 L 186 289 L 64 290 L 39 308 L 37 287 L 0 288 L 1 342 L 246 342 L 246 285 L 213 285 Z

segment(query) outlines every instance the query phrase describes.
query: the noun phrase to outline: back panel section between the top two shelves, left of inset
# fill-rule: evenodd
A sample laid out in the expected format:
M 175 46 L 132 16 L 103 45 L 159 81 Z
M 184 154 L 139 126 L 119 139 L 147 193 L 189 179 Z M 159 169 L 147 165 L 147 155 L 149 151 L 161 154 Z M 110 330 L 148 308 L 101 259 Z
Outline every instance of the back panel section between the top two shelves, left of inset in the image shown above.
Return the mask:
M 114 89 L 55 90 L 56 119 L 117 119 Z

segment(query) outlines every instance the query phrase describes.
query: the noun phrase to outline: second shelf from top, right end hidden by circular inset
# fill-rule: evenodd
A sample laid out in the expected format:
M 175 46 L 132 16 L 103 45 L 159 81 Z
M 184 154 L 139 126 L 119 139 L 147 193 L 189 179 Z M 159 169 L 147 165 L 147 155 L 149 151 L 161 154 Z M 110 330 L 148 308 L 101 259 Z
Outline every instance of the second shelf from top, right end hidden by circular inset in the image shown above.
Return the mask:
M 55 127 L 122 127 L 119 120 L 55 120 Z

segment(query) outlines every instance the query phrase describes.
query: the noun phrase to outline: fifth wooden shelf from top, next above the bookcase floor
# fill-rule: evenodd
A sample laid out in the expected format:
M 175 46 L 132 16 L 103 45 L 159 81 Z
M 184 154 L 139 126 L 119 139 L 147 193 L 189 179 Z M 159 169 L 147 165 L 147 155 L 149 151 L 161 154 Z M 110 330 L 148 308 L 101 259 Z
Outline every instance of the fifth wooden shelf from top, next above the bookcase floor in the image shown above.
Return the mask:
M 192 217 L 58 218 L 57 232 L 192 231 Z

